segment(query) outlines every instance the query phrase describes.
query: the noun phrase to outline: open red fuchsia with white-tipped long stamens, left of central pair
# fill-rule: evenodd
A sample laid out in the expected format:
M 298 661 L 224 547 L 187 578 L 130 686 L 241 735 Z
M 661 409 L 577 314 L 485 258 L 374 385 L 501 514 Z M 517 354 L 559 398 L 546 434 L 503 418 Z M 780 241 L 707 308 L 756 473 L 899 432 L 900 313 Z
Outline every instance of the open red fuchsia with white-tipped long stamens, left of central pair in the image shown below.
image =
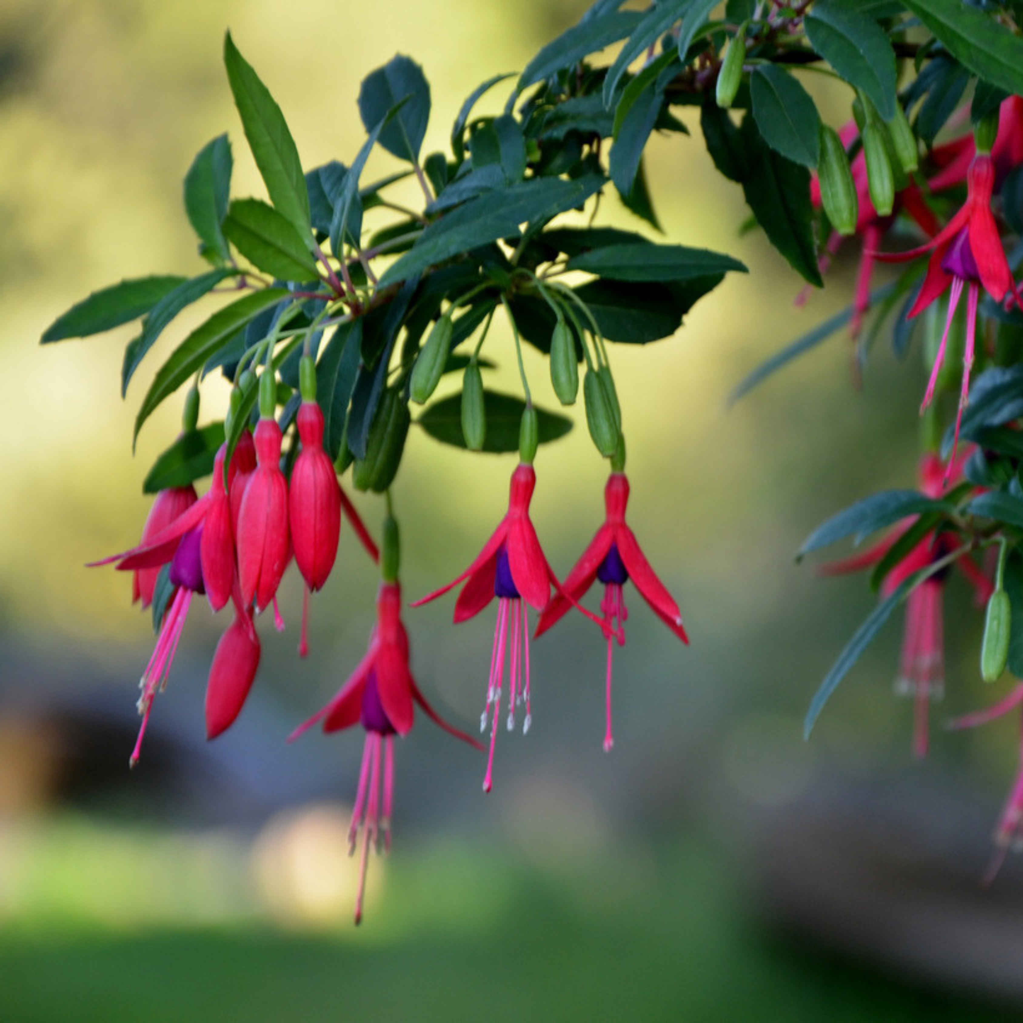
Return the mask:
M 457 624 L 478 615 L 495 596 L 498 598 L 487 703 L 480 718 L 481 731 L 486 730 L 487 720 L 491 719 L 490 756 L 483 780 L 484 792 L 490 792 L 493 786 L 494 746 L 497 740 L 501 686 L 504 682 L 505 648 L 509 648 L 507 727 L 509 731 L 515 727 L 516 707 L 525 704 L 526 714 L 522 728 L 525 733 L 532 723 L 526 605 L 542 611 L 550 596 L 550 584 L 561 588 L 543 557 L 536 530 L 529 519 L 529 502 L 535 487 L 536 473 L 533 466 L 520 462 L 511 474 L 507 514 L 484 544 L 476 561 L 446 586 L 412 604 L 413 608 L 417 608 L 464 582 L 454 605 L 454 621 Z

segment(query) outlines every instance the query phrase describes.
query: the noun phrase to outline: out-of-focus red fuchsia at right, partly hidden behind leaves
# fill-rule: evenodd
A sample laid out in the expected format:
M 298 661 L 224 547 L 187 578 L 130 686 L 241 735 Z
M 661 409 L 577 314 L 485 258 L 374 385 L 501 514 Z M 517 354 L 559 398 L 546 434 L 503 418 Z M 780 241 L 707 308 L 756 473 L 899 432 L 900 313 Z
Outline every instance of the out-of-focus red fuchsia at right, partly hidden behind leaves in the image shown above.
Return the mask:
M 949 469 L 952 478 L 962 478 L 966 455 L 958 459 Z M 936 454 L 925 454 L 920 462 L 920 489 L 928 497 L 940 497 L 944 489 L 946 470 Z M 892 545 L 917 521 L 916 516 L 906 519 L 881 543 L 844 561 L 832 562 L 822 567 L 827 575 L 851 572 L 869 568 L 880 562 Z M 947 558 L 955 549 L 953 538 L 947 533 L 932 531 L 885 576 L 881 585 L 881 595 L 890 596 L 911 575 Z M 955 559 L 955 566 L 973 586 L 977 604 L 983 606 L 993 588 L 991 580 L 980 570 L 969 554 Z M 918 757 L 927 756 L 928 710 L 931 700 L 944 696 L 944 586 L 947 571 L 941 571 L 920 583 L 906 597 L 905 628 L 902 633 L 902 649 L 899 656 L 899 670 L 895 679 L 895 692 L 899 696 L 910 697 L 915 706 L 914 750 Z

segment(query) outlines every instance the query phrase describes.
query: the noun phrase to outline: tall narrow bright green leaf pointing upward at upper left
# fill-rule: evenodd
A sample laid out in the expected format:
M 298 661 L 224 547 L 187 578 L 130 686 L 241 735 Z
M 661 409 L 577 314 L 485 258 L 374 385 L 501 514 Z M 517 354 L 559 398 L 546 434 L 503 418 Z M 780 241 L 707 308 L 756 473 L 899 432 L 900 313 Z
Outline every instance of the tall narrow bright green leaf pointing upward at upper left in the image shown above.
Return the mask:
M 238 52 L 230 33 L 224 37 L 224 64 L 241 127 L 270 202 L 305 239 L 312 233 L 309 192 L 299 150 L 284 116 L 252 65 Z

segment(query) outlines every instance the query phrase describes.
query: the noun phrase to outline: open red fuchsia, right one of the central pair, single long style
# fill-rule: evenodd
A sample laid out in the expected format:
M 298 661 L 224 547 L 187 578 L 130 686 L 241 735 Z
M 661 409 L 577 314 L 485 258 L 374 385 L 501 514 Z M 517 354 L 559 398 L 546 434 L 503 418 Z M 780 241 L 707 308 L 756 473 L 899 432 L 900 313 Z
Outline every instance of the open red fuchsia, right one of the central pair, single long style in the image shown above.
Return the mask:
M 555 592 L 550 598 L 536 626 L 536 635 L 539 636 L 560 621 L 573 604 L 582 599 L 583 594 L 595 580 L 604 583 L 601 611 L 604 614 L 604 634 L 608 640 L 608 727 L 604 737 L 606 751 L 610 751 L 615 745 L 611 730 L 611 654 L 613 640 L 617 640 L 619 647 L 625 644 L 625 620 L 628 618 L 625 593 L 622 589 L 625 583 L 631 579 L 657 617 L 682 642 L 690 641 L 682 627 L 682 616 L 678 605 L 651 568 L 635 535 L 625 524 L 625 506 L 628 499 L 629 481 L 625 474 L 612 473 L 604 489 L 606 508 L 604 525 L 596 531 L 589 546 L 569 573 L 562 584 L 561 592 Z

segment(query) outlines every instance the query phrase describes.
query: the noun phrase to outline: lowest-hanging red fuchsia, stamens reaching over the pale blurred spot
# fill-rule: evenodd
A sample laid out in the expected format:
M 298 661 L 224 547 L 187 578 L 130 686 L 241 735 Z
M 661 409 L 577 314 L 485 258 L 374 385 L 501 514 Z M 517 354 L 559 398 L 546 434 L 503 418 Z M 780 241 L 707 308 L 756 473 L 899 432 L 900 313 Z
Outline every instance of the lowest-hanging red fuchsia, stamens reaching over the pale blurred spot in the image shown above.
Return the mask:
M 323 722 L 324 731 L 340 731 L 361 724 L 366 732 L 362 768 L 352 810 L 348 838 L 355 852 L 362 831 L 362 860 L 355 923 L 362 920 L 369 847 L 391 848 L 391 810 L 394 805 L 394 737 L 405 736 L 413 723 L 413 704 L 445 731 L 482 749 L 476 740 L 448 724 L 427 702 L 408 665 L 408 633 L 401 622 L 401 587 L 384 582 L 376 594 L 376 625 L 369 635 L 369 649 L 338 695 L 288 737 L 294 742 L 307 728 Z

